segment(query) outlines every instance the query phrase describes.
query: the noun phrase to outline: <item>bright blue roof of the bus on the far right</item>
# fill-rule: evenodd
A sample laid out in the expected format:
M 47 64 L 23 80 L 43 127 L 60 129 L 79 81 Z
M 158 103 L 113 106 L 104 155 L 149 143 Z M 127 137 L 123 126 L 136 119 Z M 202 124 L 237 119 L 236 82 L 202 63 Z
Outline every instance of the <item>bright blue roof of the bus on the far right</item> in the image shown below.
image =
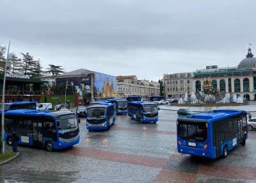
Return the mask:
M 241 113 L 246 113 L 246 111 L 238 111 L 238 110 L 225 110 L 225 109 L 219 109 L 219 110 L 213 110 L 206 113 L 196 113 L 193 115 L 188 116 L 182 116 L 179 117 L 178 120 L 186 120 L 186 121 L 208 121 L 208 122 L 214 122 L 216 120 L 221 120 L 224 118 L 228 118 L 230 116 L 239 115 Z

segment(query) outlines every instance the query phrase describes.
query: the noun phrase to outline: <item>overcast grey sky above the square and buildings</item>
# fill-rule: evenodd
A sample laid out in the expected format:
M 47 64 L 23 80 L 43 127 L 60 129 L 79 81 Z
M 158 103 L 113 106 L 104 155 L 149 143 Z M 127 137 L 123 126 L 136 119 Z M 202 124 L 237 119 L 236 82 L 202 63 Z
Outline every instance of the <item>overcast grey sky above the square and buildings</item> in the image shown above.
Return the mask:
M 0 45 L 42 65 L 158 80 L 256 54 L 256 1 L 1 0 Z

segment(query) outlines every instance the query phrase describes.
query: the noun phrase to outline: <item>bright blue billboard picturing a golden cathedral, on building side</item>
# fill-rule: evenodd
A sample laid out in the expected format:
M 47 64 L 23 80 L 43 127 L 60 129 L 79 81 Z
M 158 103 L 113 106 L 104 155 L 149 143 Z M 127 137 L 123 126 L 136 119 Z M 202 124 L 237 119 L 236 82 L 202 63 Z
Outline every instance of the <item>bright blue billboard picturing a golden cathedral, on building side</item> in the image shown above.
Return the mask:
M 116 77 L 108 74 L 94 72 L 94 97 L 115 97 Z

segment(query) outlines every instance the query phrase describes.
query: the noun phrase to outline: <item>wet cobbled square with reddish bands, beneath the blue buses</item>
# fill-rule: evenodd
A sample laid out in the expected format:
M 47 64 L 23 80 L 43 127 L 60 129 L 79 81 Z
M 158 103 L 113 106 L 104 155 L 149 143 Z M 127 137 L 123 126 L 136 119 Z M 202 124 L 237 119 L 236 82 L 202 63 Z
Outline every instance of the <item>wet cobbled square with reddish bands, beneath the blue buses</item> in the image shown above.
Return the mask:
M 0 166 L 0 182 L 256 182 L 256 131 L 226 159 L 177 152 L 176 112 L 141 124 L 117 116 L 105 132 L 80 124 L 79 145 L 58 152 L 19 147 L 20 156 Z

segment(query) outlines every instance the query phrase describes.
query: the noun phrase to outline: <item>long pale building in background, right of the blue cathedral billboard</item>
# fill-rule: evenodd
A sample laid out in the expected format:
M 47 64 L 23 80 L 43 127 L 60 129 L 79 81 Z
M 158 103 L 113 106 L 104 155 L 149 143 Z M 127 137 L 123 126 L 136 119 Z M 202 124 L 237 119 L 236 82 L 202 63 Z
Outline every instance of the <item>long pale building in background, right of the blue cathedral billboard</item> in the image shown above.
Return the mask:
M 159 95 L 160 85 L 154 81 L 140 80 L 136 76 L 116 76 L 117 97 L 140 95 L 143 98 Z

